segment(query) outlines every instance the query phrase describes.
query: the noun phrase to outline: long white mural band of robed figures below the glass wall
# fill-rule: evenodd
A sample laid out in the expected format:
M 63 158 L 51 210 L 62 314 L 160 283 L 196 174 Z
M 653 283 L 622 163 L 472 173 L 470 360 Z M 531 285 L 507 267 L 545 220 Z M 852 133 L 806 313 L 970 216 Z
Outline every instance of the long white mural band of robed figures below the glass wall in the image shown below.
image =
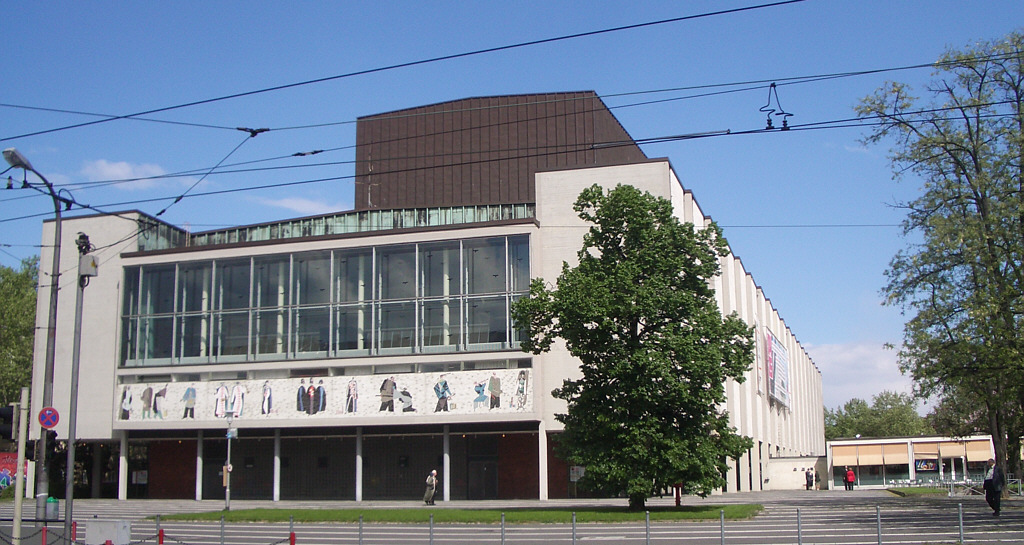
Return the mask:
M 302 418 L 328 419 L 383 414 L 404 415 L 407 418 L 417 418 L 421 414 L 497 414 L 532 410 L 530 378 L 527 369 L 498 369 L 442 374 L 123 384 L 120 394 L 111 403 L 120 421 L 145 419 L 147 422 L 213 421 L 228 416 L 243 420 L 288 420 L 297 418 L 296 413 Z M 343 394 L 328 395 L 331 388 Z M 360 389 L 375 391 L 374 395 L 379 394 L 380 403 L 360 407 Z M 284 412 L 274 410 L 274 390 L 296 392 L 296 413 L 290 409 Z M 247 412 L 246 397 L 250 392 L 257 392 L 259 409 L 252 407 Z M 464 403 L 461 402 L 462 396 L 465 396 Z M 460 400 L 458 404 L 457 399 Z M 422 412 L 418 411 L 418 406 L 424 404 L 429 405 Z

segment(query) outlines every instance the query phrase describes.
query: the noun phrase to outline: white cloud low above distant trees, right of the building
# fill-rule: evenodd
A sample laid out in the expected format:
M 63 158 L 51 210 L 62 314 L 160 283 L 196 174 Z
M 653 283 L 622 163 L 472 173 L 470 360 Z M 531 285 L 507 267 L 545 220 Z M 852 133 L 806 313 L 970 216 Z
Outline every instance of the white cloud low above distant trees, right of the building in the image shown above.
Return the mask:
M 910 377 L 899 372 L 896 350 L 882 342 L 851 342 L 806 346 L 821 371 L 825 407 L 836 409 L 858 397 L 868 404 L 883 390 L 910 393 Z M 919 405 L 919 411 L 922 406 Z

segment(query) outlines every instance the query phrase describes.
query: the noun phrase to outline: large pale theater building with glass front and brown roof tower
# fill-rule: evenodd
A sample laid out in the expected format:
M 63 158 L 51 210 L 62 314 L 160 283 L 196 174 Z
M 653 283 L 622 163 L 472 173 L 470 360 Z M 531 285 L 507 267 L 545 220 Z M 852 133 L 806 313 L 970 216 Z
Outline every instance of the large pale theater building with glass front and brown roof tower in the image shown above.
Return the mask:
M 78 233 L 100 248 L 84 295 L 81 495 L 223 498 L 229 428 L 232 498 L 415 500 L 431 469 L 444 500 L 573 493 L 551 391 L 578 363 L 563 347 L 521 351 L 509 307 L 574 258 L 584 187 L 628 183 L 685 221 L 710 217 L 593 92 L 414 108 L 361 118 L 356 133 L 352 210 L 205 233 L 137 211 L 65 219 L 62 270 Z M 821 376 L 737 257 L 715 288 L 758 344 L 748 380 L 726 385 L 723 409 L 754 448 L 723 492 L 761 490 L 770 458 L 824 455 Z M 44 346 L 39 335 L 36 411 Z M 67 436 L 66 419 L 56 430 Z

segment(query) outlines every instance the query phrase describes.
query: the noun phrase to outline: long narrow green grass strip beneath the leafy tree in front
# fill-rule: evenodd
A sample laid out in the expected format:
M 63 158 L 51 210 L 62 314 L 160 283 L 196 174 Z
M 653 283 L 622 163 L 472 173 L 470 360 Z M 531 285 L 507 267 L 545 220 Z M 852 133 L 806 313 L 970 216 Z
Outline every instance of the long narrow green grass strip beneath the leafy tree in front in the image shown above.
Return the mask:
M 763 509 L 759 504 L 656 507 L 650 509 L 651 520 L 718 520 L 720 511 L 728 519 L 750 518 Z M 243 509 L 211 511 L 205 513 L 176 513 L 161 516 L 162 520 L 224 520 L 229 522 L 427 522 L 434 515 L 435 522 L 498 523 L 502 513 L 508 523 L 568 523 L 572 513 L 578 522 L 636 522 L 643 521 L 644 511 L 630 511 L 626 507 L 581 509 L 436 509 L 430 507 L 410 509 Z

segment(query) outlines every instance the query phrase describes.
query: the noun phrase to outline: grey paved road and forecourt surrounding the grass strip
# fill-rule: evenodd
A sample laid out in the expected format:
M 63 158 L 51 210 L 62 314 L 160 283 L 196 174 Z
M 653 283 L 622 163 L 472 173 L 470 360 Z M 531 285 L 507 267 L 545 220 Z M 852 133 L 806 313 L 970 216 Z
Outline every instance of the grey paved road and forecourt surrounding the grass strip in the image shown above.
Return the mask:
M 552 500 L 447 502 L 435 509 L 495 508 L 512 509 L 535 506 L 583 508 L 623 505 L 625 500 Z M 963 532 L 965 543 L 1024 543 L 1024 501 L 1005 501 L 1002 516 L 990 515 L 980 497 L 898 498 L 883 491 L 787 491 L 739 493 L 707 499 L 686 498 L 690 505 L 725 503 L 760 503 L 762 514 L 751 520 L 708 522 L 652 522 L 634 525 L 508 525 L 503 532 L 499 525 L 296 525 L 299 545 L 428 545 L 428 544 L 501 544 L 508 545 L 571 545 L 575 543 L 615 543 L 629 545 L 791 545 L 797 543 L 874 545 L 881 528 L 885 544 L 956 543 Z M 672 500 L 653 499 L 651 505 L 671 505 Z M 27 511 L 29 511 L 27 505 Z M 288 507 L 295 509 L 352 508 L 365 509 L 411 507 L 422 508 L 418 502 L 270 502 L 232 500 L 233 509 Z M 157 522 L 148 518 L 178 512 L 219 511 L 222 501 L 188 500 L 78 500 L 76 519 L 80 521 L 80 541 L 88 538 L 88 521 L 96 518 L 131 520 L 134 543 L 157 543 Z M 10 503 L 0 505 L 0 518 L 10 518 Z M 61 503 L 61 513 L 63 504 Z M 0 542 L 9 543 L 10 523 L 0 525 Z M 273 545 L 289 542 L 287 523 L 226 523 L 162 521 L 165 543 L 179 545 Z M 48 534 L 48 544 L 66 544 L 60 525 Z M 40 543 L 34 527 L 26 527 L 23 545 Z M 30 538 L 31 536 L 31 538 Z

